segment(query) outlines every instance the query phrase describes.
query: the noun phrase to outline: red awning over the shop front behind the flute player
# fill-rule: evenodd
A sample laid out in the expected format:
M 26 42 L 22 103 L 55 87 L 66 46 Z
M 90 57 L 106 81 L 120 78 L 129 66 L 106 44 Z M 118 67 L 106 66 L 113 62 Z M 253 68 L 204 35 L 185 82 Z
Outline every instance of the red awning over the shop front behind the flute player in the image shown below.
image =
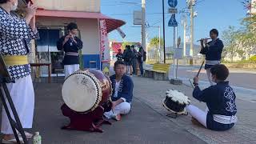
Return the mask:
M 93 18 L 105 19 L 107 33 L 126 24 L 126 22 L 114 18 L 107 17 L 101 13 L 90 13 L 80 11 L 60 11 L 60 10 L 37 10 L 38 17 L 58 17 L 58 18 Z

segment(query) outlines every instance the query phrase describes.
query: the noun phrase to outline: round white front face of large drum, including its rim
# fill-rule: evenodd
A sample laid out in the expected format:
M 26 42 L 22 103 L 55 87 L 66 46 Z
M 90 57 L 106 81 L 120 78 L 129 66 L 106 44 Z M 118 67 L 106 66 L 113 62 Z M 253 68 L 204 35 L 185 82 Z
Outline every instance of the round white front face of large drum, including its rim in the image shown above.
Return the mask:
M 62 98 L 71 110 L 88 112 L 102 100 L 102 90 L 93 74 L 75 73 L 66 78 L 62 86 Z

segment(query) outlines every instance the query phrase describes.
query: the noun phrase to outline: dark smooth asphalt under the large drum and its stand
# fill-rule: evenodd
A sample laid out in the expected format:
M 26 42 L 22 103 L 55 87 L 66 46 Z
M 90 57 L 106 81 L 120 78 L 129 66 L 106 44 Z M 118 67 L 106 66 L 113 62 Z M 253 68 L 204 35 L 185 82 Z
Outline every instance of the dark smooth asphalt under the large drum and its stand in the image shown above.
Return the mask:
M 89 133 L 76 130 L 61 130 L 69 122 L 62 116 L 61 84 L 35 83 L 35 111 L 33 132 L 39 131 L 43 144 L 170 144 L 198 143 L 201 139 L 184 128 L 176 126 L 162 114 L 134 98 L 129 116 L 113 125 L 103 125 L 104 132 Z M 135 92 L 136 95 L 138 95 Z M 30 142 L 32 143 L 32 142 Z

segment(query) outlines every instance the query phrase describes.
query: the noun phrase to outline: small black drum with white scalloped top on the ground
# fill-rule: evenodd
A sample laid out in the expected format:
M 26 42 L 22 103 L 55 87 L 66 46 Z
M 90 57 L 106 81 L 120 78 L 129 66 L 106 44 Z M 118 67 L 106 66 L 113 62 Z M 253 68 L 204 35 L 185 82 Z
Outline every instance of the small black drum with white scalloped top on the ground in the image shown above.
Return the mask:
M 166 98 L 162 101 L 162 105 L 174 114 L 184 114 L 189 104 L 190 98 L 178 90 L 167 90 Z

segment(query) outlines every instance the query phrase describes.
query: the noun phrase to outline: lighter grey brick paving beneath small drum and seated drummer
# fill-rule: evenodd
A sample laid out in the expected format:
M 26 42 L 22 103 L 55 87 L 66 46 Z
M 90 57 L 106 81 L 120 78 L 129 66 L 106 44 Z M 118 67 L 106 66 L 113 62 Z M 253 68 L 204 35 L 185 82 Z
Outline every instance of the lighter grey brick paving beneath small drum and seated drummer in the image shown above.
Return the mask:
M 134 97 L 156 110 L 159 114 L 166 115 L 167 111 L 162 106 L 162 99 L 166 97 L 166 90 L 180 90 L 191 99 L 193 105 L 205 110 L 206 105 L 192 97 L 190 86 L 174 86 L 167 81 L 154 81 L 152 78 L 133 77 Z M 238 95 L 239 97 L 239 95 Z M 256 97 L 256 96 L 255 96 Z M 237 99 L 238 123 L 224 132 L 206 130 L 205 128 L 192 125 L 190 116 L 180 115 L 178 118 L 168 118 L 191 134 L 207 143 L 256 143 L 256 106 L 254 102 Z

